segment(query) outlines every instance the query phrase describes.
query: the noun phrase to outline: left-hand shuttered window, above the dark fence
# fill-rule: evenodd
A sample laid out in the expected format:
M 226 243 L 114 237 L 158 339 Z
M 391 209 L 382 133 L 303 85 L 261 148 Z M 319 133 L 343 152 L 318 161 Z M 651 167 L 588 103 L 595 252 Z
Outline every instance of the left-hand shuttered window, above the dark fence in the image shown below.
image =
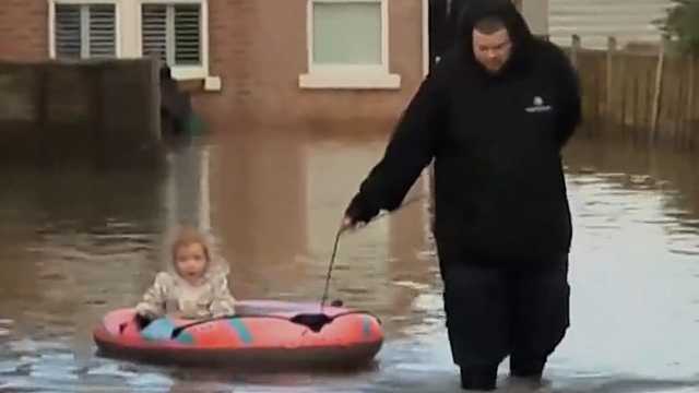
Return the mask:
M 90 59 L 117 56 L 114 3 L 55 1 L 51 5 L 51 57 Z

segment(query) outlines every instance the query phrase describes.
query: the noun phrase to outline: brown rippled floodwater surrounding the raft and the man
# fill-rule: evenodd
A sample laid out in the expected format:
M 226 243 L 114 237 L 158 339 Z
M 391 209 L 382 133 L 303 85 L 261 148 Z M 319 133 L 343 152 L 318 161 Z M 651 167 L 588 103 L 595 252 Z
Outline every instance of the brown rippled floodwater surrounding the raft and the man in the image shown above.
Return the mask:
M 95 355 L 93 326 L 139 300 L 178 223 L 212 235 L 236 297 L 321 295 L 341 213 L 386 138 L 256 134 L 178 143 L 159 170 L 2 170 L 0 392 L 460 391 L 422 204 L 340 241 L 331 298 L 384 322 L 368 369 L 246 374 Z M 572 326 L 542 391 L 699 391 L 698 164 L 612 142 L 567 148 Z M 500 374 L 500 392 L 529 392 L 507 364 Z

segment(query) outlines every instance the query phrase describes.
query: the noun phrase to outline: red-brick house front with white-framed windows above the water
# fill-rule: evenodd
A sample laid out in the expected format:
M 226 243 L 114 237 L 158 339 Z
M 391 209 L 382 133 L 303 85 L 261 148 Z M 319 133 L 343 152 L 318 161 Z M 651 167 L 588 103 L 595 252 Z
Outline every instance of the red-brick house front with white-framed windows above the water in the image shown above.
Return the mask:
M 0 60 L 156 56 L 224 126 L 392 121 L 428 72 L 439 1 L 2 0 Z

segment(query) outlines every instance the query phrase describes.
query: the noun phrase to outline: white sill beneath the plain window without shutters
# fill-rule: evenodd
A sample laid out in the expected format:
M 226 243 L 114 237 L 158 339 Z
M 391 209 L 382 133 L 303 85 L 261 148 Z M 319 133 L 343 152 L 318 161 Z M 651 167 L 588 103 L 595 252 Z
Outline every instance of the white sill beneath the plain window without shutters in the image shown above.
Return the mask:
M 398 90 L 401 75 L 389 73 L 311 72 L 298 76 L 300 88 Z

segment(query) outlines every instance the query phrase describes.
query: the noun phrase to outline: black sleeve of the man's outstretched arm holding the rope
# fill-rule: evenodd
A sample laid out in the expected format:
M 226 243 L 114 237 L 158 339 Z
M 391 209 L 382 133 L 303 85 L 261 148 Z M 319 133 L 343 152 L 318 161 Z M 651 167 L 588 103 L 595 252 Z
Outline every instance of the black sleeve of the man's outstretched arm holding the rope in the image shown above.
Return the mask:
M 400 204 L 435 154 L 437 132 L 443 121 L 442 83 L 430 74 L 403 112 L 381 160 L 362 182 L 345 215 L 369 222 L 381 210 Z

